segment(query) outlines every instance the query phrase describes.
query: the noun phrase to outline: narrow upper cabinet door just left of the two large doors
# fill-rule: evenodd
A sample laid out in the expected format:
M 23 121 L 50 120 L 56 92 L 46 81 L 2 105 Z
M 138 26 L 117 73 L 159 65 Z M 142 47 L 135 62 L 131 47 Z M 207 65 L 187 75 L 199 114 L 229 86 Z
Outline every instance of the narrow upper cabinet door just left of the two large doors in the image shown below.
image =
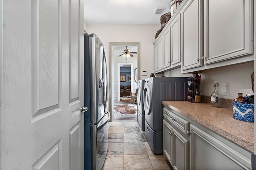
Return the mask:
M 171 34 L 171 65 L 180 63 L 181 54 L 180 54 L 180 14 L 173 19 L 170 25 L 170 34 Z

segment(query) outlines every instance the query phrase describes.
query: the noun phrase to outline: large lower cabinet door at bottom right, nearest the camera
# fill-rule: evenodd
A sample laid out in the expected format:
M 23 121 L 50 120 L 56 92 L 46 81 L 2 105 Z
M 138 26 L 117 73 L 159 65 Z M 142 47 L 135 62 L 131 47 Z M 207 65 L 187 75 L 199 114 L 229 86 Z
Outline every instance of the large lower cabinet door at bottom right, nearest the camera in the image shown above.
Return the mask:
M 250 169 L 250 160 L 212 135 L 190 125 L 190 170 Z M 245 164 L 247 163 L 247 164 Z

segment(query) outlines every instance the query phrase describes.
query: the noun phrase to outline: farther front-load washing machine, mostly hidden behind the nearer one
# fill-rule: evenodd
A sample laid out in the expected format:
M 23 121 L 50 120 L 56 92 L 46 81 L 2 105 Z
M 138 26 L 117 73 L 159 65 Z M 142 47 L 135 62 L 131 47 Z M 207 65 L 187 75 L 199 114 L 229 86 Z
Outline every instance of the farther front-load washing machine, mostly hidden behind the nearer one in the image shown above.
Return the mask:
M 143 89 L 145 80 L 139 80 L 137 86 L 138 122 L 142 131 L 145 130 L 145 111 L 143 102 Z

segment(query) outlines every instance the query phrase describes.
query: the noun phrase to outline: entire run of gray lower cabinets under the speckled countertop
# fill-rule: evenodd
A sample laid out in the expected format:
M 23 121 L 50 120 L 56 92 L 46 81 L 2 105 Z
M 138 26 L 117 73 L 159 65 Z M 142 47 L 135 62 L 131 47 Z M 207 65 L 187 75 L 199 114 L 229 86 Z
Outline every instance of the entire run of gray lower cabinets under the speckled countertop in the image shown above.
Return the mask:
M 164 106 L 164 156 L 176 170 L 251 169 L 251 153 Z

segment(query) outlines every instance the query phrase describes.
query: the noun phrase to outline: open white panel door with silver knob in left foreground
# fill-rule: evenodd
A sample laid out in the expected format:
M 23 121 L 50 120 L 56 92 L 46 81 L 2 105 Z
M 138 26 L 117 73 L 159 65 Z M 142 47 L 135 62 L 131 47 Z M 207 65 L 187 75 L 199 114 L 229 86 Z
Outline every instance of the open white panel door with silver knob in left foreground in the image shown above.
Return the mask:
M 83 170 L 83 0 L 0 2 L 0 169 Z

